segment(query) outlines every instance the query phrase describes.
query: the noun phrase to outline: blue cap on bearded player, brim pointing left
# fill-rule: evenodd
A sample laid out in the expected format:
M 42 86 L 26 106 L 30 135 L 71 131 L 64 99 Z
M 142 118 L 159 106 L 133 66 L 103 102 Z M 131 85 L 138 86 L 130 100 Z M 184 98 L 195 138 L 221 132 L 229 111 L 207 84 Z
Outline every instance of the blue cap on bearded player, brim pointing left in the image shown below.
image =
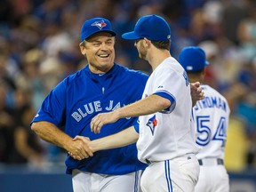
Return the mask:
M 168 41 L 171 39 L 171 28 L 164 18 L 158 15 L 146 15 L 137 21 L 134 31 L 124 33 L 124 39 L 137 40 L 148 38 L 152 41 Z

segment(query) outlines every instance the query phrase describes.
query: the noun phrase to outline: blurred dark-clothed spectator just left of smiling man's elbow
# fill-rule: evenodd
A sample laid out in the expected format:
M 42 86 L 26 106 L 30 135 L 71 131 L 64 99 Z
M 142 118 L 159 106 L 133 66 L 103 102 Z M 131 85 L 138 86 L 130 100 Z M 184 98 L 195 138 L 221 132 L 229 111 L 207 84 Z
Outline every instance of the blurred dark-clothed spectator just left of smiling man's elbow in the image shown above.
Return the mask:
M 15 92 L 16 123 L 13 130 L 13 149 L 10 151 L 12 164 L 27 164 L 31 167 L 44 168 L 44 147 L 37 135 L 31 131 L 29 123 L 36 111 L 29 105 L 28 92 L 17 89 Z

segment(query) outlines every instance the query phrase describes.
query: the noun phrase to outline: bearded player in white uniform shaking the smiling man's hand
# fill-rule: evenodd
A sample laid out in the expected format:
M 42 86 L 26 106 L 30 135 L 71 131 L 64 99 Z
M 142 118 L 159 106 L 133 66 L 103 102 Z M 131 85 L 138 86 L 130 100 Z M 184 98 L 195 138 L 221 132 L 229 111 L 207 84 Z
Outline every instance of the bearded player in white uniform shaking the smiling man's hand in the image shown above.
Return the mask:
M 187 73 L 170 54 L 171 29 L 162 17 L 147 15 L 138 20 L 134 31 L 122 37 L 135 40 L 140 58 L 148 60 L 153 72 L 141 100 L 93 117 L 92 132 L 106 132 L 106 129 L 115 126 L 111 124 L 108 128 L 104 124 L 140 116 L 140 124 L 116 134 L 124 141 L 115 139 L 116 135 L 111 139 L 118 145 L 125 145 L 139 137 L 138 157 L 141 162 L 148 164 L 141 177 L 142 191 L 192 192 L 199 175 L 195 155 L 198 148 L 195 131 L 190 123 L 192 101 Z M 93 141 L 94 149 L 95 146 L 99 149 L 104 145 L 102 140 L 96 144 L 97 141 Z M 108 140 L 105 145 L 115 143 Z

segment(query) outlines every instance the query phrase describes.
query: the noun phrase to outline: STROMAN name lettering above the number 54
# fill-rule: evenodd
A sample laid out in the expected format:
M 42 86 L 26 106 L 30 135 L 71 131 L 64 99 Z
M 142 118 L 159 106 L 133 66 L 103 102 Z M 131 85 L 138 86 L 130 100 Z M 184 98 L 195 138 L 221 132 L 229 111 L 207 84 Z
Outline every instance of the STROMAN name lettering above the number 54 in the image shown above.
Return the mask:
M 224 111 L 227 110 L 226 102 L 224 100 L 221 100 L 219 97 L 205 97 L 204 100 L 198 100 L 196 102 L 196 106 L 194 107 L 195 110 L 201 109 L 201 108 L 219 108 Z

